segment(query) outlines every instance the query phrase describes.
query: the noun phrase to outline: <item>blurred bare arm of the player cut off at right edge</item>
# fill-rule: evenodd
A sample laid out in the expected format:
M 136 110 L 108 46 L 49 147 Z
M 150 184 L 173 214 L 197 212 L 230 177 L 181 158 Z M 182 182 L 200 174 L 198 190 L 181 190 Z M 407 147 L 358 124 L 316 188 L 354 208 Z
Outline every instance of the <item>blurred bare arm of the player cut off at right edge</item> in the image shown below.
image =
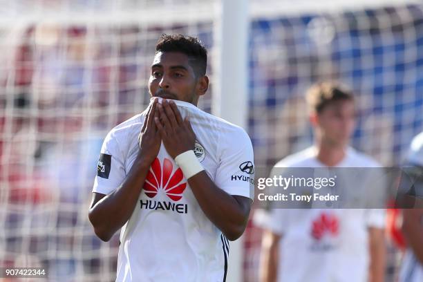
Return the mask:
M 408 245 L 423 265 L 423 209 L 403 209 L 402 231 Z

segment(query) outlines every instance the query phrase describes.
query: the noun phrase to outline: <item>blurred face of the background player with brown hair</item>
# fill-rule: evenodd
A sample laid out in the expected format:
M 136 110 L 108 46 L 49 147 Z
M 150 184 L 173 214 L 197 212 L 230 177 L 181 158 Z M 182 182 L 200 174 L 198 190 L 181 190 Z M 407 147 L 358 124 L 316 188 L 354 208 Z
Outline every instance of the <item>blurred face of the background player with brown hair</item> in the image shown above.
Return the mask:
M 328 104 L 317 114 L 315 126 L 322 142 L 336 146 L 346 146 L 355 127 L 355 107 L 350 100 Z

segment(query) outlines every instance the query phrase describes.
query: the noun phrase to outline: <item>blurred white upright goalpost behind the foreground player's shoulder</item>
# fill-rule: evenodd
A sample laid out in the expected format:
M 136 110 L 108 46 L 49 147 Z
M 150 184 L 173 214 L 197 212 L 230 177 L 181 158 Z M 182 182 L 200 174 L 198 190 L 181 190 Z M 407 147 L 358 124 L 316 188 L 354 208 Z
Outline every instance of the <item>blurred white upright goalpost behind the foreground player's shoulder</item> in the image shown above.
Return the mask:
M 216 23 L 215 42 L 218 55 L 215 65 L 216 88 L 212 113 L 247 131 L 248 117 L 248 31 L 249 3 L 243 0 L 221 1 Z M 227 281 L 243 279 L 243 236 L 231 242 Z

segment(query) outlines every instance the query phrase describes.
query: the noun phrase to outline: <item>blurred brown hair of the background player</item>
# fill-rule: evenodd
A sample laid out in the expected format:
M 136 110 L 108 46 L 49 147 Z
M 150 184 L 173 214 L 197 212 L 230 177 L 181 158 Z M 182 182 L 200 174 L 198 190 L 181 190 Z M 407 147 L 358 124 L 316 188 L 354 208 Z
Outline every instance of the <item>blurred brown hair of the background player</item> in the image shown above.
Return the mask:
M 354 96 L 353 93 L 339 86 L 339 84 L 320 82 L 308 89 L 306 100 L 311 111 L 321 113 L 328 104 L 340 100 L 354 101 Z

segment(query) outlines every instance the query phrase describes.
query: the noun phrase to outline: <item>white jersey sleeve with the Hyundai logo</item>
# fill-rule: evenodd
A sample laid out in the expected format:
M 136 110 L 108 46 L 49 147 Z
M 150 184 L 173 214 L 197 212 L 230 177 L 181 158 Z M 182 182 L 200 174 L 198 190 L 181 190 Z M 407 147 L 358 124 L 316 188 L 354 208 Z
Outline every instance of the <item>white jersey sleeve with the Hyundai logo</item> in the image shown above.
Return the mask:
M 220 162 L 215 183 L 230 195 L 254 199 L 254 153 L 250 137 L 241 128 L 219 139 Z

